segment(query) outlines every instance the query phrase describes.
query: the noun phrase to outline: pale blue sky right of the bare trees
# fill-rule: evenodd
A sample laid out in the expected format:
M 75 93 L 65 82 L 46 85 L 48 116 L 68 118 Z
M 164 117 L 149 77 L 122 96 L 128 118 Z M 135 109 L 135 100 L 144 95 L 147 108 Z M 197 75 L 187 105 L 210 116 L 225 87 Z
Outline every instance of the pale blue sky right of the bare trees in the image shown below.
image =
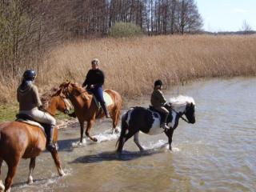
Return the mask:
M 204 22 L 203 30 L 238 31 L 242 23 L 256 30 L 256 0 L 195 0 Z

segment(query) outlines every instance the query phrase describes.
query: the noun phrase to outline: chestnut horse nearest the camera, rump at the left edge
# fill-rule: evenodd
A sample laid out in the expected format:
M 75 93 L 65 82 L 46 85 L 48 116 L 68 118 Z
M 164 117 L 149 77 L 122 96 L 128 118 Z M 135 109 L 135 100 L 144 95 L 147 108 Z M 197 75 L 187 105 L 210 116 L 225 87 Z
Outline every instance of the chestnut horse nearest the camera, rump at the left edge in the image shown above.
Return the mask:
M 64 95 L 58 91 L 51 96 L 46 111 L 55 115 L 56 110 L 68 112 L 70 105 L 66 102 Z M 58 130 L 54 129 L 54 142 L 58 140 Z M 32 172 L 35 166 L 35 158 L 46 149 L 46 136 L 38 126 L 31 126 L 25 122 L 3 122 L 0 123 L 0 175 L 2 161 L 8 166 L 5 186 L 0 178 L 0 191 L 10 191 L 18 163 L 21 158 L 30 158 L 30 174 L 28 183 L 33 182 Z M 54 158 L 55 165 L 60 176 L 64 175 L 61 162 L 58 158 L 58 151 L 50 152 Z

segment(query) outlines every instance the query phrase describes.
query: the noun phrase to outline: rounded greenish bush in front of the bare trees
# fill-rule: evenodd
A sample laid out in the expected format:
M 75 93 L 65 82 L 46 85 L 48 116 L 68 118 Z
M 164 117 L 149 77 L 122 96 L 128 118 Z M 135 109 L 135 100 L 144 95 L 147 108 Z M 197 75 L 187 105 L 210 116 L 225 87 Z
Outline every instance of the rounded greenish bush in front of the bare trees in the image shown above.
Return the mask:
M 143 32 L 139 26 L 136 26 L 132 22 L 116 22 L 111 27 L 109 36 L 113 38 L 125 38 L 141 36 Z

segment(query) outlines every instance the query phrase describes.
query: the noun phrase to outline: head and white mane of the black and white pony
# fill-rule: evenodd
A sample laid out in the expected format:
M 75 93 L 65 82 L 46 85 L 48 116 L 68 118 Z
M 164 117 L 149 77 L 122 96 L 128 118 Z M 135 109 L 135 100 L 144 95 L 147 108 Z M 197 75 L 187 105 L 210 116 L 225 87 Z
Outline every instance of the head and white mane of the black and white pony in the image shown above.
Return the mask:
M 177 98 L 170 98 L 171 107 L 174 111 L 176 111 L 181 116 L 185 114 L 187 118 L 187 122 L 195 123 L 195 102 L 194 98 L 190 98 L 187 96 L 179 95 Z

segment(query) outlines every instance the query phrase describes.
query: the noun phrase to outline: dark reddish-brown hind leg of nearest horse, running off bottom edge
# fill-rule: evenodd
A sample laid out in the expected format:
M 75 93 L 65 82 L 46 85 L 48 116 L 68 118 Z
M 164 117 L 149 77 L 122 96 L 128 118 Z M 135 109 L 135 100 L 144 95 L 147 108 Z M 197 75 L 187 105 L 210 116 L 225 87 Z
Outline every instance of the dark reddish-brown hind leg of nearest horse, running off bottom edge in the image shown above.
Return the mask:
M 11 159 L 12 162 L 6 162 L 8 166 L 8 173 L 7 173 L 6 182 L 5 182 L 6 192 L 10 192 L 10 186 L 13 182 L 13 178 L 16 173 L 19 160 L 20 160 L 20 157 L 15 157 Z

